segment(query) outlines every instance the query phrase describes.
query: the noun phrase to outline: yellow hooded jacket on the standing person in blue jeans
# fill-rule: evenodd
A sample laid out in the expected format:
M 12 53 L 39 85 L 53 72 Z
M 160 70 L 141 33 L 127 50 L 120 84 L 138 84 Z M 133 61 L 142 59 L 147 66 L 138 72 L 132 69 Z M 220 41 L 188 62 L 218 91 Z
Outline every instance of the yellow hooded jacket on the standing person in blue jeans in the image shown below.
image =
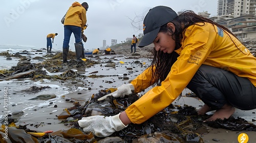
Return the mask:
M 84 9 L 78 2 L 73 3 L 67 11 L 64 25 L 83 28 L 83 26 L 86 25 L 86 22 L 86 9 Z

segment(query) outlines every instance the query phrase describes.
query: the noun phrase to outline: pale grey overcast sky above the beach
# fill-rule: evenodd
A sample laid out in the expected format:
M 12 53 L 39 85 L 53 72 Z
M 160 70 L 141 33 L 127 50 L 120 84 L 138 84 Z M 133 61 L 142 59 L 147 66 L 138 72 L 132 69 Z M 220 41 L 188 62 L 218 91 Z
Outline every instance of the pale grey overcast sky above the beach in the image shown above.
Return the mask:
M 46 36 L 58 33 L 54 38 L 53 49 L 62 50 L 62 16 L 75 1 L 63 0 L 1 0 L 0 5 L 0 44 L 27 45 L 39 49 L 46 47 Z M 143 33 L 142 19 L 149 9 L 156 6 L 168 6 L 174 11 L 193 10 L 196 13 L 208 11 L 210 16 L 217 15 L 217 0 L 87 0 L 88 28 L 84 34 L 88 41 L 85 49 L 102 47 L 103 40 L 111 45 L 111 39 L 117 43 Z M 141 22 L 138 22 L 141 21 Z M 74 35 L 70 40 L 74 50 Z

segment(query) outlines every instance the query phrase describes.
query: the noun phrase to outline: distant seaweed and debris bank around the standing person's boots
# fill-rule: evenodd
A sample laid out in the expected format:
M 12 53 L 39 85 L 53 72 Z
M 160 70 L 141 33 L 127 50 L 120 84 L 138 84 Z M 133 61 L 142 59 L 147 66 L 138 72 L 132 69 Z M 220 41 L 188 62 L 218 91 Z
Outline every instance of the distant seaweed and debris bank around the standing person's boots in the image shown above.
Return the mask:
M 12 57 L 17 57 L 15 55 L 10 55 L 7 53 L 0 53 L 0 55 L 8 55 Z M 84 62 L 76 62 L 74 59 L 75 53 L 69 52 L 69 62 L 62 63 L 62 53 L 56 53 L 52 55 L 51 58 L 47 58 L 50 55 L 46 55 L 46 59 L 41 63 L 31 63 L 28 58 L 20 57 L 20 61 L 16 66 L 12 66 L 10 69 L 0 70 L 0 80 L 11 80 L 11 79 L 25 79 L 31 78 L 33 80 L 38 79 L 59 79 L 67 80 L 76 77 L 83 77 L 79 74 L 72 72 L 69 68 L 86 68 L 94 64 L 99 64 L 99 62 L 87 59 Z M 38 57 L 39 58 L 39 57 Z M 41 58 L 41 57 L 40 57 Z M 73 59 L 72 59 L 73 58 Z M 61 75 L 48 75 L 47 71 L 50 73 L 63 73 Z

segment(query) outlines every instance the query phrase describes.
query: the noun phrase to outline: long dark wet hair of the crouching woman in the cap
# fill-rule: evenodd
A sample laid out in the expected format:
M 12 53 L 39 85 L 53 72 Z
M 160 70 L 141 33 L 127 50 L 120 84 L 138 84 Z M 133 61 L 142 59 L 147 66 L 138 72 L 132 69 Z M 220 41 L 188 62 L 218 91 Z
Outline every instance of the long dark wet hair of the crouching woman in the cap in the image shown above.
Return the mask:
M 169 31 L 172 33 L 170 36 L 176 41 L 176 46 L 175 50 L 179 49 L 181 47 L 181 42 L 183 39 L 183 35 L 185 30 L 191 26 L 191 25 L 199 25 L 199 26 L 204 26 L 206 23 L 198 23 L 198 22 L 207 22 L 212 25 L 216 25 L 217 27 L 221 28 L 224 30 L 226 33 L 230 33 L 231 35 L 232 32 L 225 28 L 222 25 L 219 25 L 217 22 L 214 22 L 208 18 L 204 18 L 203 16 L 197 15 L 193 11 L 184 11 L 180 15 L 178 15 L 174 20 L 169 21 L 172 22 L 175 26 L 175 31 L 172 31 L 172 29 L 167 28 L 167 23 L 163 26 L 161 26 L 159 32 L 167 32 Z M 234 36 L 234 35 L 233 35 Z M 236 37 L 236 36 L 234 36 Z M 177 61 L 177 58 L 179 55 L 176 52 L 173 53 L 163 53 L 162 51 L 156 51 L 155 48 L 152 50 L 152 63 L 151 67 L 156 66 L 155 70 L 152 68 L 152 79 L 151 83 L 152 85 L 157 85 L 160 86 L 161 82 L 165 80 L 167 75 L 169 74 L 170 68 L 173 66 L 173 64 Z

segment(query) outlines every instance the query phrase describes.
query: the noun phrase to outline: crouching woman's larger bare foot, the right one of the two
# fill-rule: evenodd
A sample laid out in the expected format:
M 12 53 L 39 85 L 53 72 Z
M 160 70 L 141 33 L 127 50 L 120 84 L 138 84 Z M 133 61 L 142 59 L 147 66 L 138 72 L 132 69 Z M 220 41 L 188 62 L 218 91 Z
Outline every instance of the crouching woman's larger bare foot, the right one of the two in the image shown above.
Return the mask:
M 214 115 L 212 115 L 210 118 L 208 118 L 205 121 L 215 121 L 217 118 L 220 118 L 221 120 L 224 120 L 224 118 L 229 118 L 233 113 L 235 109 L 230 104 L 225 104 L 220 109 L 216 110 Z

